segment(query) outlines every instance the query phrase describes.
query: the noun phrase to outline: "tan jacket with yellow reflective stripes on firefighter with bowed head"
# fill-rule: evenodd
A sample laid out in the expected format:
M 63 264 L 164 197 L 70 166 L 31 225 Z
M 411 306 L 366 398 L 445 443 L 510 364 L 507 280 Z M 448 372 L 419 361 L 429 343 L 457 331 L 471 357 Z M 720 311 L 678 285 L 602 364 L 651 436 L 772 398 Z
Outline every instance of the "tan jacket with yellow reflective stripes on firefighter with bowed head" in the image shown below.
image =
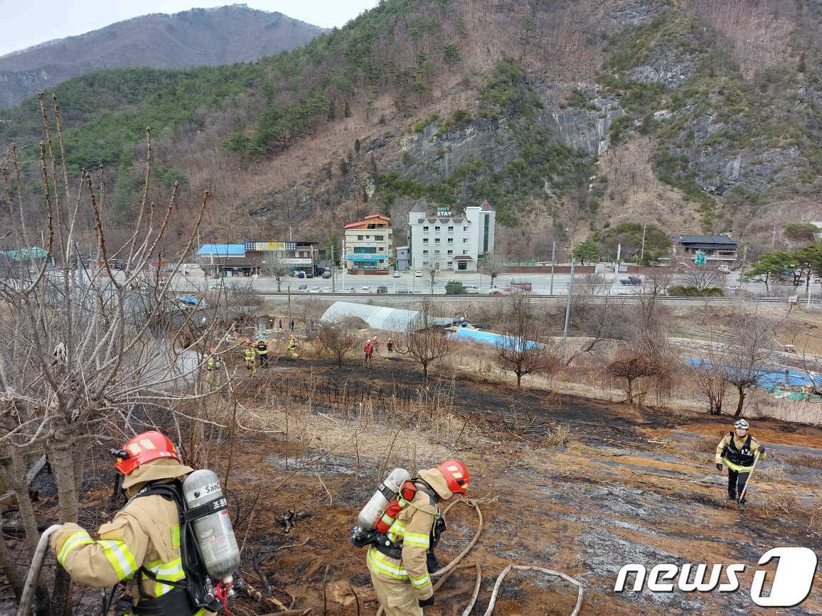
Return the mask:
M 432 505 L 428 494 L 418 490 L 408 507 L 397 514 L 386 533 L 390 540 L 402 547 L 402 558 L 392 559 L 370 545 L 367 554 L 369 571 L 387 580 L 408 580 L 419 599 L 428 599 L 433 595 L 426 552 L 437 516 L 439 510 Z

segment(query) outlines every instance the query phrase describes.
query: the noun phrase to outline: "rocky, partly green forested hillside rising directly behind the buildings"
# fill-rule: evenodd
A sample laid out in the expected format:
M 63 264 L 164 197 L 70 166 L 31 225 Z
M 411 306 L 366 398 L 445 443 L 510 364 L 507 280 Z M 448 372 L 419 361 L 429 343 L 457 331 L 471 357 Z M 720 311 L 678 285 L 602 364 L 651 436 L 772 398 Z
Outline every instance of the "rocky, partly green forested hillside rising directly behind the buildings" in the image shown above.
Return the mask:
M 637 222 L 755 248 L 820 219 L 820 22 L 820 0 L 386 0 L 256 62 L 54 93 L 69 163 L 107 170 L 113 225 L 151 126 L 182 207 L 212 191 L 214 240 L 299 223 L 330 242 L 371 211 L 402 229 L 416 200 L 487 199 L 513 258 Z M 0 140 L 39 138 L 35 102 L 3 114 Z

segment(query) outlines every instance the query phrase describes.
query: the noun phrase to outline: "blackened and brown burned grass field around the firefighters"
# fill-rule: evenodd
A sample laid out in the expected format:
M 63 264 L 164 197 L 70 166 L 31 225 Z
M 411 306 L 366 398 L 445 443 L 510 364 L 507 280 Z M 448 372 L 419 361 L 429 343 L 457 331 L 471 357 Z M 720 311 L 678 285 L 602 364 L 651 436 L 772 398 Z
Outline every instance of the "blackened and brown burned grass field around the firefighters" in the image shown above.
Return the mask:
M 471 469 L 469 498 L 483 515 L 478 543 L 462 561 L 481 569 L 473 614 L 485 613 L 496 577 L 510 563 L 581 582 L 580 614 L 757 613 L 749 591 L 764 552 L 822 549 L 818 428 L 755 422 L 769 460 L 740 513 L 725 500 L 726 477 L 713 467 L 728 417 L 465 378 L 433 376 L 426 384 L 409 362 L 386 358 L 371 368 L 282 362 L 243 381 L 236 393 L 268 433 L 240 430 L 215 449 L 221 478 L 230 459 L 225 483 L 249 586 L 233 614 L 375 614 L 364 550 L 348 541 L 358 510 L 391 468 L 413 470 L 446 457 L 460 457 Z M 107 460 L 95 460 L 95 469 L 81 516 L 89 528 L 122 506 L 109 499 Z M 48 478 L 41 483 L 39 517 L 49 522 L 56 505 Z M 441 565 L 469 544 L 478 515 L 459 503 L 447 523 Z M 746 570 L 738 592 L 615 593 L 617 572 L 628 563 L 649 571 L 658 563 L 745 563 Z M 773 572 L 774 564 L 765 568 Z M 474 568 L 457 570 L 426 613 L 463 614 L 474 583 Z M 87 614 L 90 592 L 76 594 Z M 513 572 L 493 613 L 570 614 L 575 600 L 568 582 Z M 787 610 L 820 612 L 818 591 Z

